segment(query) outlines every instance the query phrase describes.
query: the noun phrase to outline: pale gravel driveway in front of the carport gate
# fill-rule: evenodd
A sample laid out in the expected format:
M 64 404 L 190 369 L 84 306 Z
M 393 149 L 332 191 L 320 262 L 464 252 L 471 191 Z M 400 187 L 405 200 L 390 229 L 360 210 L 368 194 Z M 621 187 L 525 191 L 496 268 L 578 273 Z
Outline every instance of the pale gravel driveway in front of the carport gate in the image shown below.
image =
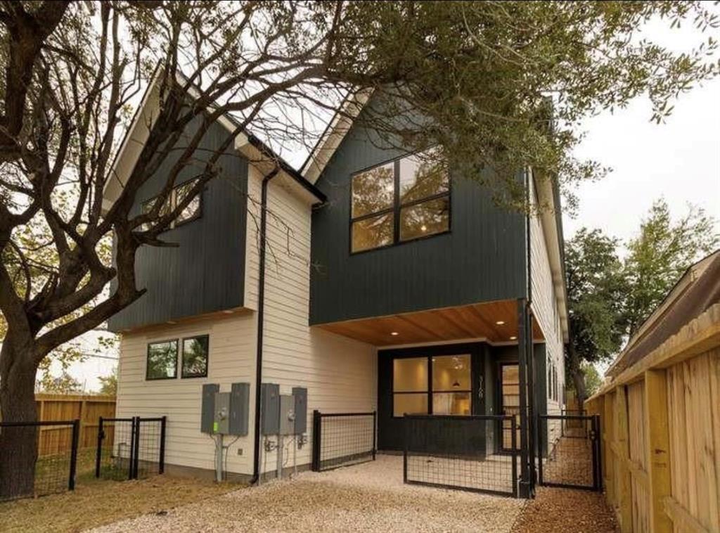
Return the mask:
M 303 472 L 94 532 L 508 532 L 523 500 L 402 483 L 402 457 Z

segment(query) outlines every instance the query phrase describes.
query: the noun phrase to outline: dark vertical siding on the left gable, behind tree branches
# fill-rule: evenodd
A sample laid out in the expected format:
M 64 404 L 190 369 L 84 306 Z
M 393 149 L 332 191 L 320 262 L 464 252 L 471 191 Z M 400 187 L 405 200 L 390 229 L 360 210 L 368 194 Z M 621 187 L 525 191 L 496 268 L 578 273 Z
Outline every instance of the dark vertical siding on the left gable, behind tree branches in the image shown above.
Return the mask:
M 194 133 L 195 127 L 188 128 L 188 135 Z M 201 161 L 209 157 L 227 135 L 224 127 L 213 125 L 195 157 Z M 179 146 L 186 142 L 181 141 Z M 168 156 L 143 185 L 134 212 L 139 212 L 141 203 L 162 189 L 177 157 L 179 154 Z M 196 176 L 198 165 L 183 169 L 177 183 Z M 221 175 L 212 179 L 202 192 L 201 218 L 161 234 L 163 241 L 179 246 L 143 246 L 138 250 L 135 262 L 138 287 L 148 291 L 110 319 L 112 331 L 243 305 L 248 161 L 230 148 L 220 157 L 219 165 Z

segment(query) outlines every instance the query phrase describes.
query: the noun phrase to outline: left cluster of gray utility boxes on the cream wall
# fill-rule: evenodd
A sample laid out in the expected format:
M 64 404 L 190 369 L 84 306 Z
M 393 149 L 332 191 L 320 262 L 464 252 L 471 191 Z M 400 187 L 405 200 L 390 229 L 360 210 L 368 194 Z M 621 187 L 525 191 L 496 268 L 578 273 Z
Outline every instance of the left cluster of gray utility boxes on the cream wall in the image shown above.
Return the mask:
M 202 385 L 200 431 L 223 435 L 247 435 L 250 384 L 233 383 L 231 392 L 221 393 L 220 385 Z

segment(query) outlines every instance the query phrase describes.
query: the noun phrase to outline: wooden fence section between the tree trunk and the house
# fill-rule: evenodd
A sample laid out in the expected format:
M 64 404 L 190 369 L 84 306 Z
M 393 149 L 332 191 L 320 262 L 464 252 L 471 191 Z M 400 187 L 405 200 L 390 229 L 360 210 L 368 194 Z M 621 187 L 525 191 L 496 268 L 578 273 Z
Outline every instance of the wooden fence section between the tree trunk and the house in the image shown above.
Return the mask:
M 36 394 L 37 420 L 41 422 L 58 420 L 80 421 L 78 448 L 94 447 L 97 444 L 99 418 L 115 416 L 114 396 Z M 38 455 L 66 452 L 73 442 L 72 428 L 68 426 L 40 426 L 38 433 Z

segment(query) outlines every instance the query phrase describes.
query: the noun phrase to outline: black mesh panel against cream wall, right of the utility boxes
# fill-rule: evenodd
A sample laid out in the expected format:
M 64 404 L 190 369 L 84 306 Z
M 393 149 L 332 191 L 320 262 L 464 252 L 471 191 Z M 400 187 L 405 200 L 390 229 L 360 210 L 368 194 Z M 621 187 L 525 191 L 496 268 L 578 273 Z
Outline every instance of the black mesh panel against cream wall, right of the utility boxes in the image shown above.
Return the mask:
M 315 472 L 374 461 L 377 454 L 376 443 L 376 411 L 312 411 L 312 470 Z

